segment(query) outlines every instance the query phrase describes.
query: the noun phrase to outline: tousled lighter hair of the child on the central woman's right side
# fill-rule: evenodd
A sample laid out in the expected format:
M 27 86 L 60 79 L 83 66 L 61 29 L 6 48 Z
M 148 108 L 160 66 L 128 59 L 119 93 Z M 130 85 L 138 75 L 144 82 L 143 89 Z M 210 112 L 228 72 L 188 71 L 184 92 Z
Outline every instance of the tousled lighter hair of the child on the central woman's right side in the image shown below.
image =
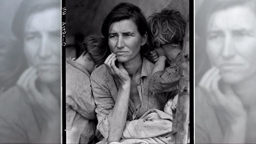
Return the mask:
M 171 44 L 174 47 L 182 46 L 186 22 L 179 11 L 163 9 L 160 13 L 149 16 L 148 23 L 154 48 L 164 44 Z

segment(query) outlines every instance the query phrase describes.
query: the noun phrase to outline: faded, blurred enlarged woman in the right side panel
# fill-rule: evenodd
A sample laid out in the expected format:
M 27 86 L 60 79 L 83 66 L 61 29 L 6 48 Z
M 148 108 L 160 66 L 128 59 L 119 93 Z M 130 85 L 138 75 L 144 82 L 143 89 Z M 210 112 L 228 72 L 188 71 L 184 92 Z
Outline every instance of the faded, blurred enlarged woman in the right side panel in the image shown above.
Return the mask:
M 195 90 L 195 143 L 255 143 L 256 2 L 204 1 L 195 30 L 211 68 Z

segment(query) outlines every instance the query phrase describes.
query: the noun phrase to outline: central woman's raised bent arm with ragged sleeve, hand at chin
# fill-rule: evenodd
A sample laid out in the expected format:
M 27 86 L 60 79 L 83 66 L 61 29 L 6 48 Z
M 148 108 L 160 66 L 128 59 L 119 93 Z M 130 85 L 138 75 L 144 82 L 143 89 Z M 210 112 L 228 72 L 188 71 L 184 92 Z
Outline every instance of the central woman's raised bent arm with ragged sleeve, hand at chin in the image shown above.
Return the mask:
M 110 75 L 117 78 L 120 84 L 116 102 L 113 101 L 108 88 L 102 85 L 104 83 L 102 79 L 97 79 L 97 76 L 94 74 L 91 76 L 92 91 L 95 97 L 96 113 L 99 122 L 97 128 L 99 127 L 98 129 L 104 133 L 103 136 L 109 143 L 119 142 L 122 136 L 128 113 L 131 87 L 131 78 L 128 72 L 121 63 L 118 63 L 117 68 L 115 61 L 116 55 L 112 53 L 104 64 Z

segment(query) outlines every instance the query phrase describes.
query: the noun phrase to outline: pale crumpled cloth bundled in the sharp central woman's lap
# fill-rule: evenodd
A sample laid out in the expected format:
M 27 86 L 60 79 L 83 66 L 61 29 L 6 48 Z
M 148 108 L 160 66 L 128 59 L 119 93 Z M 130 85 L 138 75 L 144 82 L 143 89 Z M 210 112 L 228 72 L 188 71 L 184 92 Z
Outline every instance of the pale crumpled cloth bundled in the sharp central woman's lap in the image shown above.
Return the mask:
M 172 116 L 161 110 L 151 109 L 140 119 L 127 121 L 122 143 L 173 143 L 173 136 L 164 137 L 172 131 Z

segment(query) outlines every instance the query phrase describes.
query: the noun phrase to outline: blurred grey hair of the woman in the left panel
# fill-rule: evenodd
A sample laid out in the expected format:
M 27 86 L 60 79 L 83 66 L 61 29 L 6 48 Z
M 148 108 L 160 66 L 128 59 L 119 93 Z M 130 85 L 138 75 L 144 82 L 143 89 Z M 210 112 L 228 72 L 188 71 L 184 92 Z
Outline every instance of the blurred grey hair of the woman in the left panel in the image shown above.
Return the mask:
M 29 15 L 57 7 L 61 9 L 60 0 L 23 0 L 12 22 L 12 31 L 17 39 L 22 40 L 24 27 Z

